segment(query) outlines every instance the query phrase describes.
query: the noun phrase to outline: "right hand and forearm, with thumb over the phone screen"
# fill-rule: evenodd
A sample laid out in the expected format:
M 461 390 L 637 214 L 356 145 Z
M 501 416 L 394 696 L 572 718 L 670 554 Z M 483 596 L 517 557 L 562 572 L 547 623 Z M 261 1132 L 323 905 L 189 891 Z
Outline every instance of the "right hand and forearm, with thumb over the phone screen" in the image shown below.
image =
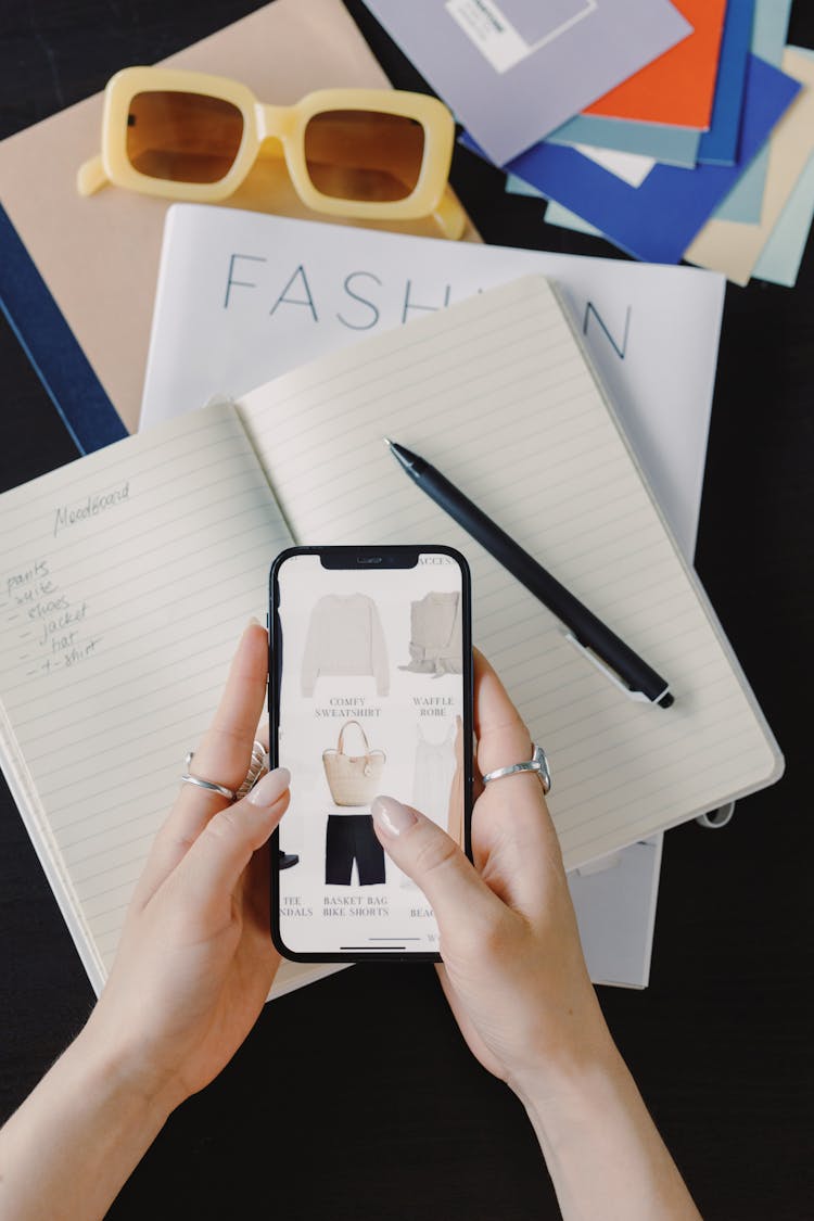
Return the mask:
M 475 731 L 482 775 L 531 758 L 528 730 L 478 653 Z M 563 1216 L 699 1221 L 602 1016 L 537 775 L 481 791 L 475 864 L 392 797 L 377 797 L 372 814 L 383 847 L 433 907 L 453 1013 L 481 1063 L 526 1106 Z

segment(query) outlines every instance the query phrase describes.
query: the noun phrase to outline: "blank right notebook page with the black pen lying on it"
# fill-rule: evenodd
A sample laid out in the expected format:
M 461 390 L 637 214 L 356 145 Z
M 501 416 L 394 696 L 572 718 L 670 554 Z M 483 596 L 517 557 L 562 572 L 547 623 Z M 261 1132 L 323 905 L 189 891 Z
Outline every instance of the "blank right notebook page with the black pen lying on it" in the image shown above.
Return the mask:
M 567 868 L 780 774 L 737 662 L 542 277 L 334 353 L 237 405 L 299 543 L 445 542 L 467 557 L 475 642 L 549 755 Z M 386 436 L 437 465 L 663 674 L 674 707 L 630 701 L 585 661 L 398 469 Z

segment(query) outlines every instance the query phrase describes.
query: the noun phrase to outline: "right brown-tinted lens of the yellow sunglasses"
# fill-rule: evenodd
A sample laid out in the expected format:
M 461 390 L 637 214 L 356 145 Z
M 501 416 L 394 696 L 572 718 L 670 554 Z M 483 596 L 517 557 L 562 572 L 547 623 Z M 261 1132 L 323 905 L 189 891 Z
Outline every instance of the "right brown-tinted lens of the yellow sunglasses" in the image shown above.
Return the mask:
M 332 110 L 305 128 L 305 164 L 323 195 L 388 203 L 415 190 L 423 161 L 423 127 L 375 110 Z

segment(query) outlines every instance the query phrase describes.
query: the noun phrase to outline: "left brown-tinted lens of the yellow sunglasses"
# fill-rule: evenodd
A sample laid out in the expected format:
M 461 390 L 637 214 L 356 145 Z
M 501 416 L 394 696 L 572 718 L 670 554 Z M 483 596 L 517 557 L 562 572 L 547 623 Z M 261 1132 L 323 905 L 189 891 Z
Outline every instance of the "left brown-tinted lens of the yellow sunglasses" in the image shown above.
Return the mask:
M 127 156 L 148 178 L 220 182 L 242 138 L 238 107 L 200 93 L 139 93 L 127 115 Z

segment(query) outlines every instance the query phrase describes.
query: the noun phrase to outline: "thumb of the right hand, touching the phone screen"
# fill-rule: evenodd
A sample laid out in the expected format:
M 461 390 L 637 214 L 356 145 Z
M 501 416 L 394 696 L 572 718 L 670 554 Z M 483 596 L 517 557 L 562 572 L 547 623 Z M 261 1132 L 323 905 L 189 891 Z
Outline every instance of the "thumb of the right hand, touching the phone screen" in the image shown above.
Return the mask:
M 376 797 L 370 812 L 382 847 L 421 886 L 442 934 L 459 928 L 463 916 L 475 928 L 499 915 L 500 900 L 455 840 L 431 818 L 395 797 Z

